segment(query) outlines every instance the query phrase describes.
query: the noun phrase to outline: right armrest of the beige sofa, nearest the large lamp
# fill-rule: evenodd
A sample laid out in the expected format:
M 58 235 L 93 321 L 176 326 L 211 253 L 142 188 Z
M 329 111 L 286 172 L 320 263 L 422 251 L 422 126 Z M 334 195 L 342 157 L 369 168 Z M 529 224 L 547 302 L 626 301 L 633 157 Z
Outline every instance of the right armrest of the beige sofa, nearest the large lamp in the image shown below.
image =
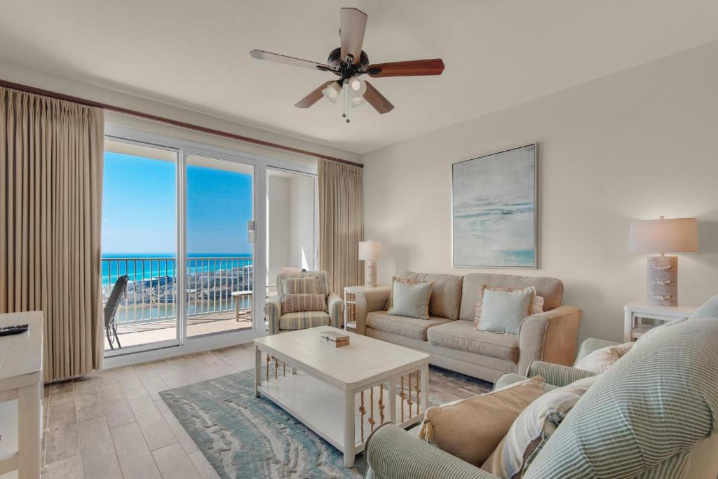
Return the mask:
M 523 320 L 518 332 L 516 372 L 525 374 L 531 361 L 573 364 L 580 323 L 581 310 L 567 304 Z

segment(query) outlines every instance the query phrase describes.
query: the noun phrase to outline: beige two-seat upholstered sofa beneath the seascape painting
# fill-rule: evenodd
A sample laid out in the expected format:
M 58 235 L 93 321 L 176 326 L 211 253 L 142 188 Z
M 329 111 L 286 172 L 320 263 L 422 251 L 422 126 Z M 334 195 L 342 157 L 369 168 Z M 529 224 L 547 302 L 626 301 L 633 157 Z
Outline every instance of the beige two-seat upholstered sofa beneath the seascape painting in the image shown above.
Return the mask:
M 559 279 L 508 274 L 424 274 L 406 271 L 401 277 L 432 281 L 429 320 L 389 315 L 389 287 L 356 294 L 359 334 L 425 351 L 431 363 L 484 381 L 504 373 L 525 374 L 533 360 L 571 365 L 581 310 L 562 305 Z M 482 284 L 493 287 L 536 287 L 544 312 L 521 323 L 518 336 L 484 332 L 474 326 L 476 298 Z

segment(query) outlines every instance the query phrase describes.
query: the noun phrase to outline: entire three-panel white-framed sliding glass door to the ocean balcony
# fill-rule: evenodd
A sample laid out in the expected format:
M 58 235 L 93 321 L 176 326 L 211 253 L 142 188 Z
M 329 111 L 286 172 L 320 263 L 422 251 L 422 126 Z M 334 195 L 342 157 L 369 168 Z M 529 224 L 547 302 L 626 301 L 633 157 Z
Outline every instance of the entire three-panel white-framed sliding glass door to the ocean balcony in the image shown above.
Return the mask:
M 276 275 L 316 267 L 316 167 L 111 124 L 106 134 L 106 357 L 266 334 Z

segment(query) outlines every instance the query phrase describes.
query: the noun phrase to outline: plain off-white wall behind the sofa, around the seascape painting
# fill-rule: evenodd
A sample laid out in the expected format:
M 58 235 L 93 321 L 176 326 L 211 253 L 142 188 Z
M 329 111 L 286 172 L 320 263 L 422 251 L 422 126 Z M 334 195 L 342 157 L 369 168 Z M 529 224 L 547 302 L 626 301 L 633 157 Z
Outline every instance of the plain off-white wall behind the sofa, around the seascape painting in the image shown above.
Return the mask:
M 712 43 L 364 155 L 381 282 L 472 271 L 451 267 L 452 163 L 536 141 L 539 267 L 493 272 L 560 278 L 584 310 L 581 338 L 620 340 L 623 304 L 645 297 L 630 220 L 696 217 L 701 252 L 681 255 L 679 300 L 717 294 L 716 58 Z

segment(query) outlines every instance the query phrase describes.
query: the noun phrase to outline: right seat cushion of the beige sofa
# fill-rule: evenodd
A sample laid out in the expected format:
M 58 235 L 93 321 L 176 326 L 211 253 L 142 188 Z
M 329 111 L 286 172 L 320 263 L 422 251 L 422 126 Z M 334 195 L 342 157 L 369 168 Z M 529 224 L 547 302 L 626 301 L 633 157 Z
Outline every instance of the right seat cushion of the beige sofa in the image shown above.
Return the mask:
M 470 321 L 451 321 L 429 329 L 429 343 L 442 348 L 466 351 L 518 362 L 518 336 L 479 331 Z

